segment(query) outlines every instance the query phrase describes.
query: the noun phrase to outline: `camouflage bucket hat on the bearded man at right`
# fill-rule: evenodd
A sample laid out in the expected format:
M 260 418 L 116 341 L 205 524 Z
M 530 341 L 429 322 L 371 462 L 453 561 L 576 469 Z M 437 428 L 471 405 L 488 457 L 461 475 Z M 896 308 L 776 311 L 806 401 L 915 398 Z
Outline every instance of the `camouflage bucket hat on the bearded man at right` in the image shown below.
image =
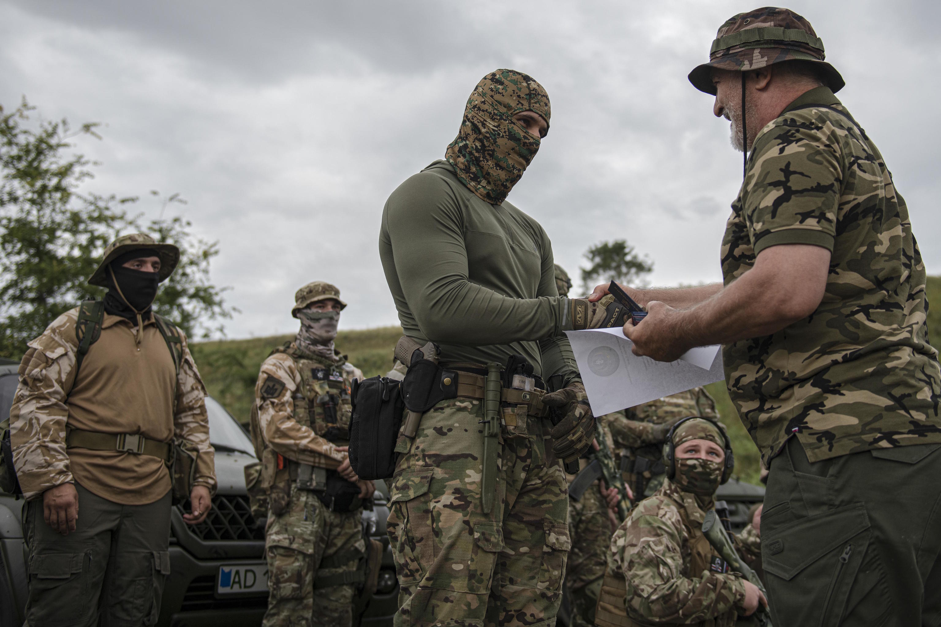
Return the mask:
M 712 41 L 709 63 L 696 66 L 689 79 L 699 91 L 715 96 L 712 68 L 749 71 L 801 60 L 814 63 L 823 85 L 836 93 L 846 83 L 823 57 L 823 42 L 803 17 L 789 8 L 756 8 L 722 24 Z

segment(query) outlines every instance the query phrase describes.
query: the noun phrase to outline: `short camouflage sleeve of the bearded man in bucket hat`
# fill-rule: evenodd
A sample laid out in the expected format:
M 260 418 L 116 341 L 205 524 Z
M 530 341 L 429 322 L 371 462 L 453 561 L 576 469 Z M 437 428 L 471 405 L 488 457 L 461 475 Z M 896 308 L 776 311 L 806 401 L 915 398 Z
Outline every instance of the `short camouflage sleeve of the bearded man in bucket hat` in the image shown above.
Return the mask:
M 758 255 L 769 246 L 814 244 L 833 250 L 842 165 L 837 130 L 794 112 L 758 136 L 743 185 L 743 213 Z

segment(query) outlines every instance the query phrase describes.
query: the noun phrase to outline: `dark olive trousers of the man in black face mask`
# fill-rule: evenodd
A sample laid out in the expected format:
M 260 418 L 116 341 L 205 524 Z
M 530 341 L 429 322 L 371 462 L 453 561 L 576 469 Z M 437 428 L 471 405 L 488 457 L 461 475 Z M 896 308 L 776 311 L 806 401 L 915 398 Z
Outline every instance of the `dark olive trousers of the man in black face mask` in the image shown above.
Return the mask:
M 154 624 L 170 572 L 170 494 L 148 505 L 120 505 L 77 483 L 75 490 L 78 521 L 68 536 L 46 525 L 41 497 L 26 505 L 26 622 L 29 627 Z

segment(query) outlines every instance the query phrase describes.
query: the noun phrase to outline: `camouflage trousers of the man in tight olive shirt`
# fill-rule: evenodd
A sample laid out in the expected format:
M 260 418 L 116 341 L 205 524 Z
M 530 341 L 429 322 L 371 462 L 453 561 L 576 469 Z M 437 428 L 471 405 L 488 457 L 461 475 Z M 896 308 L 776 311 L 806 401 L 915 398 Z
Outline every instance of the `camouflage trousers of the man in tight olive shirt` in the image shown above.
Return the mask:
M 541 418 L 502 427 L 493 509 L 481 503 L 481 400 L 425 413 L 391 479 L 389 539 L 404 625 L 551 625 L 562 601 L 568 497 Z

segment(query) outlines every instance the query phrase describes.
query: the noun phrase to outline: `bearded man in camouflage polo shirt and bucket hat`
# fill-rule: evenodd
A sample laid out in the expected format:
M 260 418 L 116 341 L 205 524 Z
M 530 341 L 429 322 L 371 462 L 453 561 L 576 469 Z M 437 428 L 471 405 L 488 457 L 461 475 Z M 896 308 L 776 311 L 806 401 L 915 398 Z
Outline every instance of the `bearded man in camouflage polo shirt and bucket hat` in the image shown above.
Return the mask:
M 941 474 L 941 373 L 905 201 L 803 17 L 733 17 L 689 78 L 748 150 L 725 286 L 629 290 L 649 313 L 625 335 L 664 361 L 724 344 L 729 394 L 770 469 L 777 627 L 938 624 L 941 483 L 926 478 Z

